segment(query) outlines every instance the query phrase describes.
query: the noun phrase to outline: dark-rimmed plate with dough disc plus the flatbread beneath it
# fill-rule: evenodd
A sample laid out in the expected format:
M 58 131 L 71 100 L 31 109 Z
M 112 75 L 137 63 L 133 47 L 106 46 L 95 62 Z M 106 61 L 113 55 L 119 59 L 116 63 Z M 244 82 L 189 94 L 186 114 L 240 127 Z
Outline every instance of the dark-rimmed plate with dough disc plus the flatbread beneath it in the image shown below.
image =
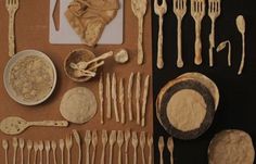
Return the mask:
M 158 93 L 157 118 L 174 137 L 194 139 L 212 125 L 218 102 L 218 88 L 209 78 L 199 73 L 183 74 Z

